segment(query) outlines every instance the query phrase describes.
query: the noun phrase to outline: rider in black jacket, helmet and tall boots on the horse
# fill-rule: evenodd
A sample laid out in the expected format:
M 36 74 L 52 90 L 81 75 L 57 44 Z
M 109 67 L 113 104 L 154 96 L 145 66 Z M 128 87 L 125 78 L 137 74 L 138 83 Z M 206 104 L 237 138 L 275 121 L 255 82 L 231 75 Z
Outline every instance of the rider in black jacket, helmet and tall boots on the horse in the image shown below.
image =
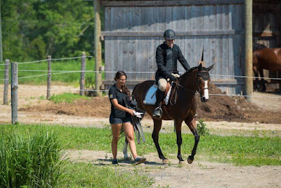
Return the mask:
M 167 79 L 171 81 L 176 81 L 179 71 L 177 71 L 177 59 L 180 64 L 187 71 L 190 66 L 188 62 L 182 55 L 182 51 L 180 47 L 174 44 L 175 42 L 175 31 L 168 29 L 164 32 L 164 43 L 160 44 L 156 49 L 156 63 L 157 63 L 157 71 L 155 73 L 155 79 L 158 83 L 158 88 L 156 91 L 156 104 L 157 108 L 153 112 L 153 116 L 157 116 L 161 118 L 162 109 L 160 103 L 164 97 L 164 91 L 167 86 Z

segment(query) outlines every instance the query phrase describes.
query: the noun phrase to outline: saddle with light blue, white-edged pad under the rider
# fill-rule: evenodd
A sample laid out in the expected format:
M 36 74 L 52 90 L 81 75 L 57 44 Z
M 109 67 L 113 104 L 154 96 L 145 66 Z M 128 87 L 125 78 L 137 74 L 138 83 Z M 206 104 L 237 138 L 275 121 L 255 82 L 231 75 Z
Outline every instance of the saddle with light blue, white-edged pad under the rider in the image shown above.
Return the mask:
M 168 100 L 170 99 L 170 94 L 171 94 L 171 89 L 172 89 L 173 84 L 171 85 L 170 82 L 167 82 L 166 90 L 164 93 L 164 99 L 162 101 L 162 104 L 167 105 Z M 158 88 L 158 84 L 153 84 L 148 91 L 146 92 L 146 95 L 144 97 L 144 104 L 148 105 L 155 105 L 156 103 L 156 91 Z

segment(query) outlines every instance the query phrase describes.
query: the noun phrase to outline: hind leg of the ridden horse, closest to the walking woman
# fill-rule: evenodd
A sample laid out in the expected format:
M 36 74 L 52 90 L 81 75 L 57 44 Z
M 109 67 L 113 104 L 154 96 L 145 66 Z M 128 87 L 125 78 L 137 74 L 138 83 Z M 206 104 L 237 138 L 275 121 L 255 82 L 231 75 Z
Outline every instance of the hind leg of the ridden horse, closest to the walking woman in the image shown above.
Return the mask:
M 152 133 L 153 142 L 157 149 L 158 156 L 160 159 L 162 159 L 163 164 L 168 164 L 168 159 L 164 157 L 164 155 L 161 151 L 161 148 L 159 146 L 159 131 L 162 126 L 162 120 L 157 120 L 157 119 L 153 118 L 153 122 L 154 122 L 154 128 L 153 128 L 153 133 Z

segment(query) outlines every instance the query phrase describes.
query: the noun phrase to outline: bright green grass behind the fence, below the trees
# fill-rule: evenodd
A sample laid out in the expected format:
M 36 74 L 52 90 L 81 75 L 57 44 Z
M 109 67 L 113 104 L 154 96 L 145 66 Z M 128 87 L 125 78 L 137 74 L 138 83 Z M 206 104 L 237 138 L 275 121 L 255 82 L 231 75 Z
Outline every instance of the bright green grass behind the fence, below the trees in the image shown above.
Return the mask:
M 77 73 L 57 73 L 55 71 L 81 71 L 81 59 L 74 60 L 61 60 L 53 61 L 52 64 L 52 82 L 66 83 L 75 86 L 79 86 L 80 74 Z M 10 68 L 10 67 L 9 67 Z M 0 69 L 3 70 L 4 66 L 0 66 Z M 48 75 L 48 63 L 47 62 L 37 62 L 32 64 L 19 64 L 18 65 L 18 77 L 19 84 L 47 84 L 47 75 Z M 40 70 L 44 72 L 32 72 L 32 71 L 21 71 L 21 70 Z M 86 60 L 86 71 L 94 71 L 95 62 L 93 58 L 88 58 Z M 0 79 L 3 79 L 4 71 L 0 71 Z M 35 77 L 36 75 L 43 75 Z M 28 77 L 28 78 L 21 78 Z M 85 73 L 86 80 L 88 77 L 93 79 L 95 83 L 95 73 Z M 3 81 L 0 80 L 0 84 L 3 84 Z

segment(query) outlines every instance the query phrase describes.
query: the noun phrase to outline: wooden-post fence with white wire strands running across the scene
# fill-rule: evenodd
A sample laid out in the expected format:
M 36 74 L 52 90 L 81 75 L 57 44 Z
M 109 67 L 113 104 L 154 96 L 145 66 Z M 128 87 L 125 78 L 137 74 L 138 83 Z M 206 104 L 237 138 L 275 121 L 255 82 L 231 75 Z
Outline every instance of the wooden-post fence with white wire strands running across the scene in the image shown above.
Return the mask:
M 50 56 L 48 56 L 48 59 L 43 59 L 43 60 L 39 60 L 39 61 L 35 61 L 35 62 L 48 62 L 48 70 L 46 70 L 46 72 L 48 72 L 48 74 L 43 74 L 43 75 L 37 75 L 38 77 L 41 76 L 48 76 L 47 79 L 47 96 L 46 99 L 50 99 L 50 92 L 52 91 L 51 89 L 51 78 L 52 75 L 55 74 L 65 74 L 65 73 L 80 73 L 80 81 L 79 81 L 79 85 L 80 85 L 80 89 L 79 89 L 79 95 L 83 96 L 85 95 L 85 91 L 95 91 L 95 92 L 102 92 L 102 91 L 106 91 L 106 90 L 101 90 L 99 88 L 96 88 L 95 90 L 85 90 L 85 73 L 115 73 L 116 71 L 86 71 L 86 57 L 90 57 L 90 56 L 86 56 L 86 53 L 82 53 L 81 57 L 70 57 L 70 58 L 60 58 L 60 59 L 52 59 Z M 55 61 L 55 60 L 64 60 L 64 59 L 81 59 L 81 71 L 52 71 L 51 68 L 51 62 Z M 17 88 L 18 88 L 18 79 L 22 79 L 22 78 L 27 78 L 27 77 L 18 77 L 18 71 L 42 71 L 42 70 L 18 70 L 18 64 L 31 64 L 31 63 L 35 63 L 35 62 L 22 62 L 22 63 L 11 63 L 11 106 L 12 106 L 12 124 L 17 123 L 18 122 L 18 118 L 17 118 Z M 0 70 L 0 71 L 4 71 L 4 79 L 2 79 L 4 81 L 4 92 L 3 92 L 3 104 L 8 104 L 8 83 L 9 83 L 9 68 L 8 66 L 10 65 L 10 60 L 6 59 L 5 64 L 0 64 L 2 66 L 5 66 L 4 70 Z M 148 74 L 152 74 L 154 75 L 155 72 L 126 72 L 126 73 L 148 73 Z M 237 75 L 212 75 L 211 77 L 240 77 L 240 78 L 246 78 L 246 76 L 237 76 Z M 31 76 L 34 77 L 34 76 Z M 250 77 L 250 78 L 255 78 L 255 77 Z M 281 78 L 272 78 L 272 77 L 264 77 L 264 79 L 278 79 L 281 80 Z M 229 95 L 229 94 L 218 94 L 218 93 L 210 93 L 209 95 L 228 95 L 228 96 L 243 96 L 243 97 L 253 97 L 253 96 L 249 96 L 249 95 Z M 255 97 L 260 97 L 260 96 L 255 96 Z M 263 96 L 264 97 L 264 96 Z M 273 97 L 269 97 L 269 98 L 273 98 Z M 281 97 L 274 97 L 274 98 L 278 98 L 281 99 Z

